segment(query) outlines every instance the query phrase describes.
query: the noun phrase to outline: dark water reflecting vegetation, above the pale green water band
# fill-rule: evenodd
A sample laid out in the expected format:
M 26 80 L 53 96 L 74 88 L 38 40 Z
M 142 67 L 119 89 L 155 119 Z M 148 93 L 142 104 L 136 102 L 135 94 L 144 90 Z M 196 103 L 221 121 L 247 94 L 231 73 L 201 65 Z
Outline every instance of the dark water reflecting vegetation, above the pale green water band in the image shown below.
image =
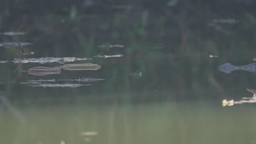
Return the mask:
M 242 89 L 254 87 L 253 74 L 237 72 L 239 79 L 231 82 L 231 76 L 217 71 L 223 63 L 252 63 L 256 21 L 253 1 L 47 3 L 42 2 L 39 8 L 36 3 L 26 1 L 1 2 L 0 80 L 9 83 L 1 86 L 3 90 L 8 87 L 9 92 L 24 91 L 25 87 L 10 83 L 37 80 L 20 70 L 61 68 L 54 62 L 74 61 L 96 63 L 102 68 L 93 72 L 65 72 L 50 78 L 106 79 L 89 91 L 77 90 L 79 93 L 172 93 L 158 98 L 147 94 L 114 98 L 124 101 L 223 99 L 229 95 L 228 91 L 237 90 L 241 85 L 245 85 Z M 21 52 L 13 37 L 24 48 L 22 55 L 17 55 Z M 21 64 L 13 74 L 11 71 L 18 65 L 8 62 L 26 64 Z M 139 79 L 133 79 L 136 77 Z

